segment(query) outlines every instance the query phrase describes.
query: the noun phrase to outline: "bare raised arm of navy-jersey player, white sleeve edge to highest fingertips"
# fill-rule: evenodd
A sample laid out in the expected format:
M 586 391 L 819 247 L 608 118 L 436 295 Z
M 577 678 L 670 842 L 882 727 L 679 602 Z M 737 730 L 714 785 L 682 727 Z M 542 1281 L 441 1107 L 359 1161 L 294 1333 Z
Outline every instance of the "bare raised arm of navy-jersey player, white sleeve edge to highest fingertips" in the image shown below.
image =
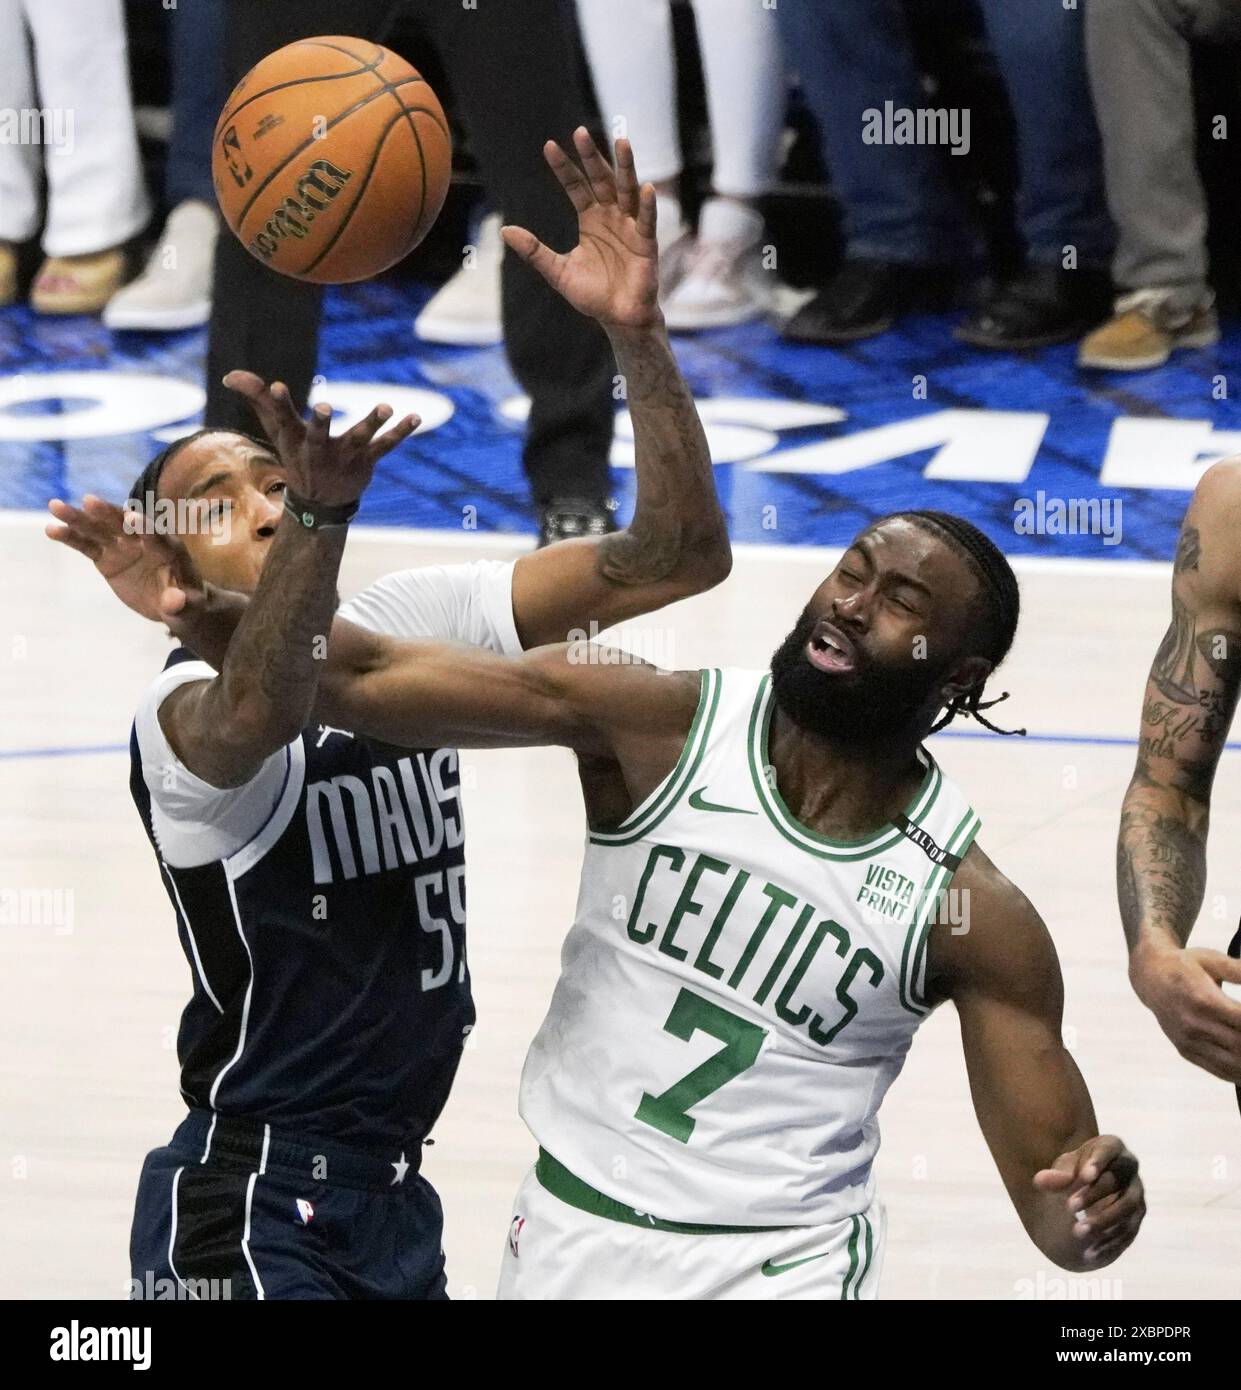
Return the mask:
M 634 421 L 638 495 L 624 531 L 561 541 L 517 562 L 513 617 L 527 648 L 699 594 L 732 564 L 706 435 L 659 307 L 655 189 L 639 188 L 628 140 L 616 143 L 616 168 L 584 129 L 574 145 L 580 164 L 554 142 L 545 153 L 577 208 L 578 245 L 559 256 L 524 228 L 506 227 L 503 236 L 607 332 Z

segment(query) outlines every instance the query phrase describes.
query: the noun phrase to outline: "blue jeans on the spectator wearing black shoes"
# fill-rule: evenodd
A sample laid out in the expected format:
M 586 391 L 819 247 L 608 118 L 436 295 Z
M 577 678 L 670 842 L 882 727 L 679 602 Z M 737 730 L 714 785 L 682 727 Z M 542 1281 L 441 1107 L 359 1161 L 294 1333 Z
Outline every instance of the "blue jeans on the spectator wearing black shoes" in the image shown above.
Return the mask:
M 1038 264 L 1060 264 L 1065 247 L 1076 246 L 1080 265 L 1106 265 L 1113 231 L 1081 7 L 981 0 L 981 8 L 1017 124 L 1027 253 Z M 864 113 L 884 111 L 888 101 L 910 111 L 932 104 L 919 82 L 901 0 L 780 0 L 777 14 L 819 124 L 849 254 L 959 263 L 974 238 L 944 178 L 944 152 L 863 140 Z

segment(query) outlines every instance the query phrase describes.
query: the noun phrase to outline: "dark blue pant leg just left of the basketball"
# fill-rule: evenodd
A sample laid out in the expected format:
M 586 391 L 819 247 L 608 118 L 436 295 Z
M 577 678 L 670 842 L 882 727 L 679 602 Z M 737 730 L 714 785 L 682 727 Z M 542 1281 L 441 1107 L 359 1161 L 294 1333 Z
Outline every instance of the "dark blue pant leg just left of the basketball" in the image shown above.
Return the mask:
M 172 11 L 172 138 L 164 192 L 168 207 L 188 197 L 215 203 L 211 136 L 228 88 L 222 0 L 182 0 Z

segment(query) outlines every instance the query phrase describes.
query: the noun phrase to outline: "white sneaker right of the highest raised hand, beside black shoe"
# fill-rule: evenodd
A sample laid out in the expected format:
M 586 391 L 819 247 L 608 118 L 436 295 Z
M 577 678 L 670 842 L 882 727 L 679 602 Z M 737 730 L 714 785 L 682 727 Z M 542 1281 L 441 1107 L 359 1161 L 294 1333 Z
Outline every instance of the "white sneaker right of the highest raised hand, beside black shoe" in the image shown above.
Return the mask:
M 763 218 L 753 208 L 723 197 L 706 202 L 684 271 L 664 300 L 668 328 L 724 328 L 767 313 L 775 277 L 763 270 L 762 239 Z

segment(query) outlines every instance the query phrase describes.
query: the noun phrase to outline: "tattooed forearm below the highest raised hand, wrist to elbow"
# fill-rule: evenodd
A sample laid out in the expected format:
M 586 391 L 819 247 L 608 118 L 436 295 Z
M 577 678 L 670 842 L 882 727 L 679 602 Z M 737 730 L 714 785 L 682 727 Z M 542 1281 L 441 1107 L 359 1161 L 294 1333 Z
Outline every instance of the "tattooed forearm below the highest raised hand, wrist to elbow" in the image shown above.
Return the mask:
M 664 331 L 614 331 L 616 363 L 634 420 L 638 495 L 628 528 L 599 546 L 599 573 L 643 585 L 681 571 L 720 578 L 728 528 L 693 398 Z

